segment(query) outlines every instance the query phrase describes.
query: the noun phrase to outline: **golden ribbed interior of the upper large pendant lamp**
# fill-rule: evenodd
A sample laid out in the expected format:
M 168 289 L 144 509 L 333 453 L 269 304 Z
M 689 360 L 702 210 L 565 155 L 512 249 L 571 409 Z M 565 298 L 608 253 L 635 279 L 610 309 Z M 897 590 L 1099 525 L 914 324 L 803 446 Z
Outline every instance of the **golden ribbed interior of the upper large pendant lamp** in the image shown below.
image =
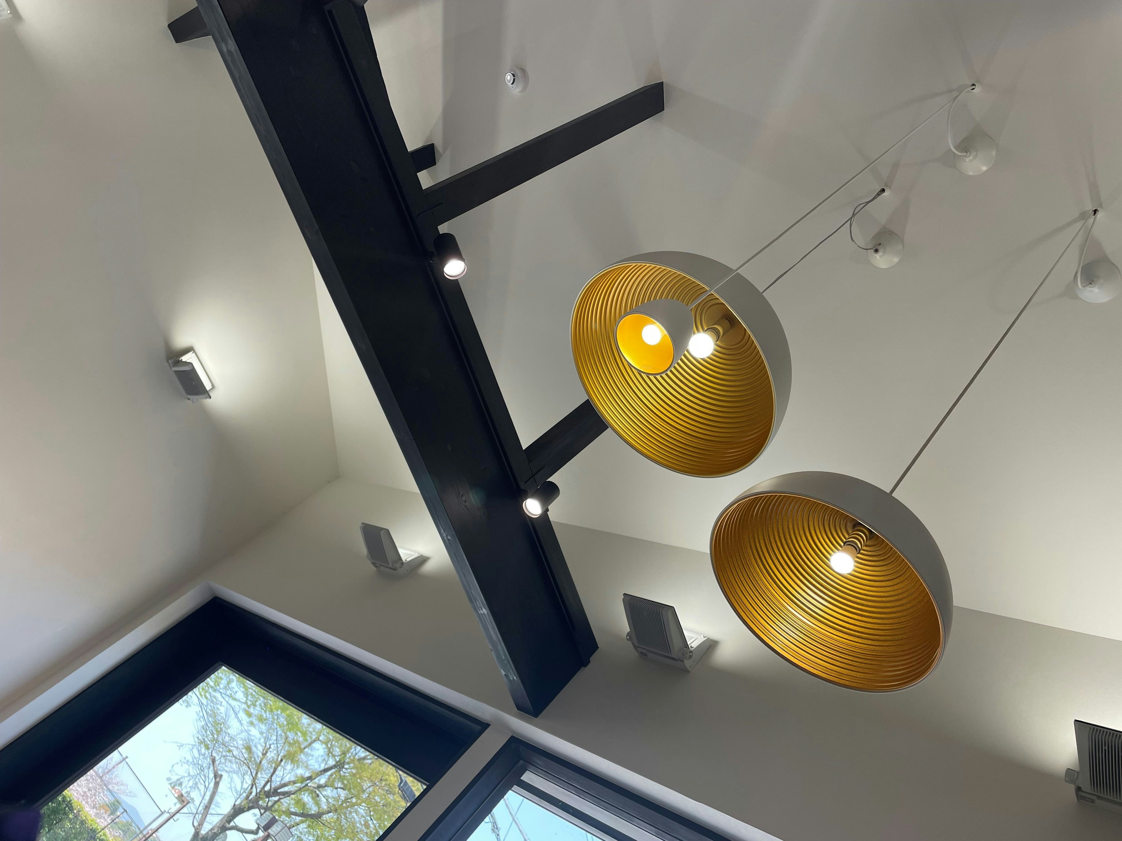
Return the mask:
M 635 370 L 616 323 L 641 304 L 696 301 L 706 287 L 646 262 L 613 266 L 589 280 L 572 314 L 572 355 L 585 391 L 616 434 L 659 464 L 690 475 L 725 475 L 755 461 L 771 438 L 775 394 L 751 333 L 716 295 L 693 309 L 695 332 L 723 314 L 734 326 L 706 359 L 686 353 L 665 373 Z

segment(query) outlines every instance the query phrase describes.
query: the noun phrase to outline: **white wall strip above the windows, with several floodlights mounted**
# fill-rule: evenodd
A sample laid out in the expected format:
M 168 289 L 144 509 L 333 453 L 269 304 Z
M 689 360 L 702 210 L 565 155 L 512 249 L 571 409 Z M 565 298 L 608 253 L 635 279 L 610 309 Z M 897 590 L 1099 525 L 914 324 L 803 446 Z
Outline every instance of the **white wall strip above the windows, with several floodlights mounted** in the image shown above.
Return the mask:
M 432 555 L 376 573 L 358 524 Z M 559 525 L 600 650 L 534 724 L 785 841 L 1114 839 L 1076 804 L 1072 720 L 1122 727 L 1122 644 L 959 609 L 918 687 L 849 693 L 785 666 L 727 609 L 702 553 Z M 341 479 L 209 573 L 214 583 L 516 718 L 415 493 Z M 623 639 L 624 591 L 717 645 L 692 673 Z M 719 598 L 719 597 L 718 597 Z

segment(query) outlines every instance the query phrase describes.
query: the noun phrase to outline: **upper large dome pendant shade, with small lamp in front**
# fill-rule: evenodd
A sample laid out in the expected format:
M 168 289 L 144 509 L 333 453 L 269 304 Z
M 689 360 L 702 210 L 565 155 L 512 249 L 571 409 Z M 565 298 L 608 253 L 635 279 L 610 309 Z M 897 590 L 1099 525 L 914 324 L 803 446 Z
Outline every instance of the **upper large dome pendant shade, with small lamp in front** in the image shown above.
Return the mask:
M 646 344 L 643 331 L 664 344 Z M 683 352 L 706 332 L 711 343 Z M 708 257 L 659 251 L 609 266 L 577 298 L 571 338 L 581 385 L 608 426 L 679 473 L 743 470 L 787 410 L 791 353 L 775 311 Z M 646 368 L 628 358 L 644 345 L 662 353 Z

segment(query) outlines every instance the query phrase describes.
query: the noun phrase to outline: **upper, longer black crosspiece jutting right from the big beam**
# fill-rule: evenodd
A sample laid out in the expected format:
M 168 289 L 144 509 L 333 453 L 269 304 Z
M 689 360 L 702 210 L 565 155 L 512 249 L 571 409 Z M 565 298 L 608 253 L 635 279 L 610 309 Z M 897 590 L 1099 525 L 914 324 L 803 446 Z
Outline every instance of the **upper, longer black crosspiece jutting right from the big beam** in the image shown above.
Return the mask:
M 661 113 L 662 82 L 640 87 L 424 191 L 426 216 L 443 224 Z

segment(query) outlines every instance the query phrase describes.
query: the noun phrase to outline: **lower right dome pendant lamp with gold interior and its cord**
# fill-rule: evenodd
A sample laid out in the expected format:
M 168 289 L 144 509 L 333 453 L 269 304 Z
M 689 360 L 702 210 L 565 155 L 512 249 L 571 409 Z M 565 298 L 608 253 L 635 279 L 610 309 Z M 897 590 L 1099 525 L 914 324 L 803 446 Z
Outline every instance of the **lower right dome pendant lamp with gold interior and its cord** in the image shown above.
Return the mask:
M 938 665 L 954 610 L 950 576 L 935 539 L 893 495 L 1086 224 L 889 492 L 840 473 L 788 473 L 721 511 L 709 547 L 717 583 L 781 657 L 866 692 L 907 688 Z

